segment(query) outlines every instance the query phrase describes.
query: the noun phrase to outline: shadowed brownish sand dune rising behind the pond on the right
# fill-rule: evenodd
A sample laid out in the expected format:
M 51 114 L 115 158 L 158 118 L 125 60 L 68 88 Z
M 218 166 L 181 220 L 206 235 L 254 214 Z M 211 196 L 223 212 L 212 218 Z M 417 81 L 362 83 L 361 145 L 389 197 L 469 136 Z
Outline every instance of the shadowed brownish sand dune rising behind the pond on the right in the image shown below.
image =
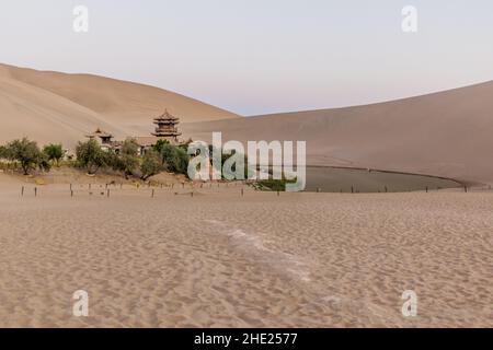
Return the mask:
M 493 82 L 394 102 L 197 122 L 210 139 L 306 140 L 310 165 L 424 173 L 493 183 Z

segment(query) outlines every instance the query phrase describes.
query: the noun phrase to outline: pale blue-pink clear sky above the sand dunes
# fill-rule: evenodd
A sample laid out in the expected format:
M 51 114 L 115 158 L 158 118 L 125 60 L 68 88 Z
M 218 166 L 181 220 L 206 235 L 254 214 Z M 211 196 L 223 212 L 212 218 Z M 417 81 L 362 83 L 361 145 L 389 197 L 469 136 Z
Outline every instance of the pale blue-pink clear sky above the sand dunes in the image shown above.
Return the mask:
M 90 32 L 72 31 L 74 5 Z M 401 10 L 419 10 L 419 32 Z M 491 0 L 0 0 L 0 62 L 169 89 L 243 115 L 493 79 Z

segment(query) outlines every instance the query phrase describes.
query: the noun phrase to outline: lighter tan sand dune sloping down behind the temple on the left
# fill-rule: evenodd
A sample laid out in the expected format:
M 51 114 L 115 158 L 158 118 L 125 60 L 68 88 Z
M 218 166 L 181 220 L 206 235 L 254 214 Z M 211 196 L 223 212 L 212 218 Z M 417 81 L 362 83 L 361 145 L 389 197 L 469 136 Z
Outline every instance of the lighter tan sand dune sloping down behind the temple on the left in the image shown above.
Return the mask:
M 0 65 L 0 142 L 27 136 L 72 147 L 96 127 L 118 137 L 147 133 L 164 108 L 183 122 L 238 117 L 152 86 Z

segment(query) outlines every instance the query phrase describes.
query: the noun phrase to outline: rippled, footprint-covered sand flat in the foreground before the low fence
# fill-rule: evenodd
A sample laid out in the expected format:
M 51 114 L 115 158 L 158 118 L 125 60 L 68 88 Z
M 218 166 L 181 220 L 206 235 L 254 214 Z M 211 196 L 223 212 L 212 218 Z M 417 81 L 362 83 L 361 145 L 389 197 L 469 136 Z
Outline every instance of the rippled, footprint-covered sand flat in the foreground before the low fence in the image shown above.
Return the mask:
M 493 192 L 20 186 L 0 183 L 2 327 L 493 327 Z

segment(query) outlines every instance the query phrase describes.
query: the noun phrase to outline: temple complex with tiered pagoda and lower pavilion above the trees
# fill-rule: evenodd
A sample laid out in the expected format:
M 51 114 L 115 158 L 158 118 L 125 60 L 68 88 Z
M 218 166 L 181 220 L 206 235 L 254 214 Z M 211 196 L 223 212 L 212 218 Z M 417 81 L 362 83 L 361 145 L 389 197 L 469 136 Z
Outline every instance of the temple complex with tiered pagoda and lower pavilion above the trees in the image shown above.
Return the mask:
M 171 115 L 168 110 L 161 116 L 153 119 L 156 125 L 154 132 L 144 137 L 128 137 L 127 140 L 134 140 L 139 145 L 139 154 L 144 155 L 147 150 L 151 149 L 159 140 L 165 140 L 171 144 L 180 144 L 179 137 L 182 133 L 177 129 L 180 118 Z M 113 136 L 98 128 L 96 131 L 87 136 L 90 140 L 96 140 L 103 150 L 119 151 L 124 141 L 113 141 Z

